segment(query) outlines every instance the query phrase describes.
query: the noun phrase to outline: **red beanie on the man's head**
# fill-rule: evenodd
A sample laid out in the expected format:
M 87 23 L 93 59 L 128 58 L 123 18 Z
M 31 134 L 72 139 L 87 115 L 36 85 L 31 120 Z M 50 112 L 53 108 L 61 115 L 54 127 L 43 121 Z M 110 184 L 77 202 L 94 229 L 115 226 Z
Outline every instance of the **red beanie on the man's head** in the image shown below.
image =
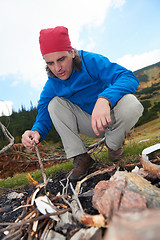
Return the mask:
M 42 29 L 39 43 L 42 56 L 47 53 L 72 50 L 68 29 L 63 26 Z

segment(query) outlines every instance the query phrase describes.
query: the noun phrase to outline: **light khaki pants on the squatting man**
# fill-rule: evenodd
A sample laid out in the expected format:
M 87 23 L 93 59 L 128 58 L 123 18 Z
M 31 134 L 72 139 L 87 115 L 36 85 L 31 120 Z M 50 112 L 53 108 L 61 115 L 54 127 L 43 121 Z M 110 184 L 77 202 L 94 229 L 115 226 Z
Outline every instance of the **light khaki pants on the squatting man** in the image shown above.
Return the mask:
M 79 133 L 97 138 L 91 126 L 91 115 L 63 97 L 54 97 L 48 105 L 48 111 L 67 158 L 87 152 Z M 111 110 L 111 124 L 98 137 L 105 136 L 107 146 L 117 150 L 142 113 L 143 106 L 138 99 L 132 94 L 125 95 Z

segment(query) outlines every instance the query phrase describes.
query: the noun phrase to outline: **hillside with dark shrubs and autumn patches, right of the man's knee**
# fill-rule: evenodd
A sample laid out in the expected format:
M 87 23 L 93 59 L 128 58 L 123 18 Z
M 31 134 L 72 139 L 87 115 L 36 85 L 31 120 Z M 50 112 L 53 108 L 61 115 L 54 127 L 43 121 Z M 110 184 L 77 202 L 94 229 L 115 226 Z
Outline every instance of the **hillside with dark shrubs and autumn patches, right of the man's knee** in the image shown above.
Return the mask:
M 139 88 L 135 95 L 144 106 L 143 117 L 136 126 L 160 119 L 160 62 L 135 71 Z

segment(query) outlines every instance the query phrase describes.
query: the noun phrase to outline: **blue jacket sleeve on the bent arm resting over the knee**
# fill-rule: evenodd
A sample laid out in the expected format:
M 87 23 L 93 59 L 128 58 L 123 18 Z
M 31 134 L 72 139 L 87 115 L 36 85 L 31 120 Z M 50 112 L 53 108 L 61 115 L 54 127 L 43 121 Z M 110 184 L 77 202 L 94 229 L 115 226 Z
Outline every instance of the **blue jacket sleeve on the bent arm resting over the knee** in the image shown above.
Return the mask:
M 134 93 L 139 81 L 134 73 L 108 58 L 99 54 L 89 54 L 85 58 L 87 69 L 92 78 L 98 78 L 104 83 L 104 90 L 98 97 L 105 97 L 114 107 L 125 94 Z

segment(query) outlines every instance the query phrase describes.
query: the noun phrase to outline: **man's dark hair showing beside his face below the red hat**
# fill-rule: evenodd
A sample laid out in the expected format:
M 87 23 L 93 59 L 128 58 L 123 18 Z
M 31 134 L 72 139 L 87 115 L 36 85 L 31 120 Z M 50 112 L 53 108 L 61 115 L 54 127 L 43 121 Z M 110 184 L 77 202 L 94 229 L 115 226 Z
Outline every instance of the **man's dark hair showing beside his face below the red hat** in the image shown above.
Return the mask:
M 70 52 L 70 51 L 68 51 Z M 76 49 L 74 49 L 74 53 L 75 53 L 75 57 L 73 58 L 73 69 L 75 69 L 76 71 L 81 71 L 81 65 L 82 65 L 82 60 L 79 54 L 79 51 L 77 51 Z M 57 78 L 52 71 L 49 69 L 49 67 L 46 65 L 46 71 L 48 76 L 50 77 L 54 77 Z

